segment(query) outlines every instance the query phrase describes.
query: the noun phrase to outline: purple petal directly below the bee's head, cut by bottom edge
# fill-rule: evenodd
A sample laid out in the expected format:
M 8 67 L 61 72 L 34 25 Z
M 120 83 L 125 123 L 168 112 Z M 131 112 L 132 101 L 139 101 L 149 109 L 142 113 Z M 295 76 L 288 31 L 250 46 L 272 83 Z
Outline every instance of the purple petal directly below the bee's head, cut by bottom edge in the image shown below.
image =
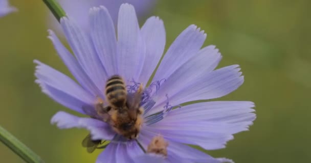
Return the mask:
M 144 152 L 138 146 L 137 142 L 120 142 L 110 143 L 107 148 L 99 155 L 96 163 L 103 162 L 120 162 L 131 163 L 139 155 L 143 155 Z

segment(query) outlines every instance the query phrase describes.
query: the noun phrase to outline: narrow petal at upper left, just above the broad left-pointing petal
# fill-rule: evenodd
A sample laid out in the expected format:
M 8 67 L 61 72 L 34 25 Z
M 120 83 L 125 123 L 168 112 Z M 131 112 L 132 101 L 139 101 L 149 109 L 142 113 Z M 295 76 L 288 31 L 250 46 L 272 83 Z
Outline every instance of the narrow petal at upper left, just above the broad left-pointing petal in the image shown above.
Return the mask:
M 90 91 L 94 96 L 103 96 L 102 92 L 96 87 L 90 77 L 85 73 L 81 65 L 77 62 L 74 56 L 72 56 L 71 52 L 66 49 L 66 47 L 64 47 L 64 45 L 60 42 L 54 32 L 52 30 L 49 30 L 49 34 L 49 39 L 53 42 L 59 57 L 62 59 L 62 61 L 65 63 L 65 65 L 74 75 L 74 77 L 78 80 L 81 86 L 85 90 Z

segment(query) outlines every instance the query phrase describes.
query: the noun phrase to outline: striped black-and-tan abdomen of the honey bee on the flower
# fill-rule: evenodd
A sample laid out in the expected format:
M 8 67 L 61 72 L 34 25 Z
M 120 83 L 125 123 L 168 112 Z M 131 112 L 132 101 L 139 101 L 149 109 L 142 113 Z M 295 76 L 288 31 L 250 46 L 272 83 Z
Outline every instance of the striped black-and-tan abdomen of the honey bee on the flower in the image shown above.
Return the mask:
M 124 106 L 127 95 L 124 80 L 118 75 L 110 77 L 106 83 L 105 94 L 110 105 L 115 107 Z

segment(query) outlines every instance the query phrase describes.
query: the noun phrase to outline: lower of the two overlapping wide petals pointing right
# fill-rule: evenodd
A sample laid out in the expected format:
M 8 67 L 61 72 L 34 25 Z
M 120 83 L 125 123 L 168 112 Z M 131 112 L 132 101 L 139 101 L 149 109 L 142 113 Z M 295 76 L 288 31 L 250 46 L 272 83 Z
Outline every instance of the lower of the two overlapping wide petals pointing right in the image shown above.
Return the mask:
M 178 110 L 178 109 L 177 109 Z M 167 140 L 201 146 L 213 150 L 224 148 L 227 141 L 233 139 L 232 134 L 248 130 L 252 121 L 227 123 L 222 121 L 198 121 L 181 119 L 174 121 L 170 113 L 161 121 L 144 126 L 144 132 L 161 134 Z M 171 121 L 173 120 L 173 121 Z

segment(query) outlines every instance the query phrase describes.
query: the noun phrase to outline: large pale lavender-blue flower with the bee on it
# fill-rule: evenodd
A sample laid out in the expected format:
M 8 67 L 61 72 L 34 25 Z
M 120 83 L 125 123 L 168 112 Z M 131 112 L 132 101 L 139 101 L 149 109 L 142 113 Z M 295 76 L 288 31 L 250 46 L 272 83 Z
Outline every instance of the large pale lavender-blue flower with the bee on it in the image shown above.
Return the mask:
M 136 91 L 140 84 L 146 86 L 164 51 L 163 21 L 150 17 L 140 28 L 134 7 L 128 4 L 120 7 L 117 35 L 104 7 L 91 9 L 88 33 L 66 17 L 60 22 L 74 56 L 52 31 L 49 38 L 79 84 L 35 60 L 36 83 L 58 103 L 91 117 L 94 117 L 94 107 L 83 108 L 94 106 L 98 97 L 104 98 L 107 78 L 118 74 L 125 79 L 129 92 Z M 141 102 L 145 110 L 144 123 L 136 140 L 123 138 L 109 124 L 96 118 L 58 112 L 51 123 L 59 128 L 86 128 L 93 140 L 111 141 L 99 155 L 98 163 L 135 162 L 144 155 L 141 147 L 146 150 L 151 139 L 159 134 L 169 144 L 164 162 L 231 161 L 213 158 L 186 145 L 206 150 L 225 148 L 234 133 L 248 130 L 256 118 L 252 113 L 254 103 L 250 101 L 210 101 L 179 106 L 188 101 L 225 96 L 244 81 L 238 65 L 215 69 L 221 55 L 213 45 L 202 48 L 205 39 L 204 31 L 190 25 L 168 48 L 151 84 L 144 88 Z

